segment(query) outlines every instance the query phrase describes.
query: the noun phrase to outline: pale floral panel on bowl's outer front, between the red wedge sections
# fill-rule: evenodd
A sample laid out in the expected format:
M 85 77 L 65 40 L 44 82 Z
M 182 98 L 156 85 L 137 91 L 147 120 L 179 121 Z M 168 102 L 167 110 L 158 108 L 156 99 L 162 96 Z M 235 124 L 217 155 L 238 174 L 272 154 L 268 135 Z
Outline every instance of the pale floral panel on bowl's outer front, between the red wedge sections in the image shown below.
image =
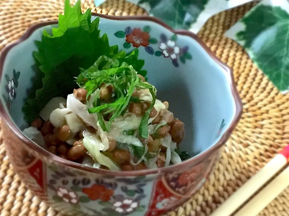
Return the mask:
M 53 174 L 48 180 L 48 187 L 54 191 L 52 199 L 55 202 L 66 202 L 72 208 L 81 209 L 81 203 L 96 201 L 99 205 L 99 215 L 122 215 L 134 211 L 144 211 L 141 200 L 144 187 L 151 181 L 145 176 L 135 178 L 97 177 L 91 179 L 71 171 L 59 171 L 56 166 L 48 167 Z M 70 186 L 70 187 L 69 187 Z M 95 204 L 94 204 L 95 205 Z M 96 214 L 96 210 L 85 206 L 86 210 Z M 79 210 L 80 211 L 80 210 Z

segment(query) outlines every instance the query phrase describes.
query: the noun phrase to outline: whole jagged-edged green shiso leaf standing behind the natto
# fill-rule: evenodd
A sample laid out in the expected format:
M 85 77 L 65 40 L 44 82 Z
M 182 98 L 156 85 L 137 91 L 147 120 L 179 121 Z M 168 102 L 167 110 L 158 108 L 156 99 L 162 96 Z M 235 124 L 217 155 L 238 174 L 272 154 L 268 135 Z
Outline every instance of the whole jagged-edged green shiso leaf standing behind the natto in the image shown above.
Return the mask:
M 126 55 L 118 52 L 117 45 L 110 46 L 106 34 L 100 37 L 99 17 L 91 21 L 90 9 L 82 14 L 80 0 L 73 7 L 65 0 L 64 15 L 59 15 L 58 24 L 52 34 L 44 30 L 42 40 L 35 42 L 35 77 L 22 109 L 27 123 L 39 117 L 51 98 L 71 94 L 77 88 L 74 77 L 79 76 L 79 68 L 89 69 L 100 56 L 114 57 L 120 64 L 127 62 L 146 75 L 141 70 L 144 60 L 138 60 L 138 50 Z

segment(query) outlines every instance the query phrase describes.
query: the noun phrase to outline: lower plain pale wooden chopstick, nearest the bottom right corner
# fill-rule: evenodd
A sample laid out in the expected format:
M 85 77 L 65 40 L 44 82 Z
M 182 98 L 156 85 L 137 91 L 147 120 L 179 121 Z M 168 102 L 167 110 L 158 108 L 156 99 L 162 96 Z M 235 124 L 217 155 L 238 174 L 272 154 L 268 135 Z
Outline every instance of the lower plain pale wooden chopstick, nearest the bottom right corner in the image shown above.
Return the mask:
M 278 194 L 289 186 L 289 167 L 281 172 L 272 182 L 261 190 L 234 216 L 256 216 L 262 211 Z

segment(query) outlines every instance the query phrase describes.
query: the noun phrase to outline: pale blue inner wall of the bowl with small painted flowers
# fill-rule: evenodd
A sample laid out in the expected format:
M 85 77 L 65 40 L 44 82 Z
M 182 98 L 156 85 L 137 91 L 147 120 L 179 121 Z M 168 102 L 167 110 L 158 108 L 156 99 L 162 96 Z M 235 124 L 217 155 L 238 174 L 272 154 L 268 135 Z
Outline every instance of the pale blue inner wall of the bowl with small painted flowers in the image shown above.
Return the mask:
M 0 97 L 20 130 L 28 126 L 21 109 L 34 77 L 34 41 L 41 40 L 43 30 L 51 32 L 52 27 L 57 25 L 34 31 L 5 59 Z M 107 34 L 110 45 L 118 45 L 120 50 L 130 52 L 140 44 L 139 58 L 145 60 L 143 69 L 148 71 L 148 82 L 157 88 L 157 98 L 168 101 L 175 118 L 185 123 L 181 150 L 196 155 L 219 140 L 236 112 L 231 78 L 195 39 L 175 35 L 152 21 L 100 18 L 99 29 L 101 35 Z

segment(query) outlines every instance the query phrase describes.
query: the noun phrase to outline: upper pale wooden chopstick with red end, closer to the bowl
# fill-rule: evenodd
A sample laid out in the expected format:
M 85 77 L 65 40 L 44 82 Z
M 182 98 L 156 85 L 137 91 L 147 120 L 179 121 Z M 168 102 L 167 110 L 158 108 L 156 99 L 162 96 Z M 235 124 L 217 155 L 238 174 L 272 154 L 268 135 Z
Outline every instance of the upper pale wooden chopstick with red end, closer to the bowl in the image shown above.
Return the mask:
M 277 154 L 271 161 L 269 161 L 269 163 L 267 163 L 262 169 L 260 169 L 259 172 L 257 172 L 242 187 L 240 187 L 235 193 L 233 193 L 225 202 L 223 202 L 222 205 L 219 206 L 219 208 L 213 211 L 213 213 L 210 214 L 210 216 L 231 215 L 244 202 L 246 202 L 247 199 L 249 199 L 257 190 L 259 190 L 267 181 L 269 181 L 270 178 L 272 178 L 278 171 L 280 171 L 284 167 L 284 165 L 287 164 L 288 159 L 289 159 L 289 145 L 287 145 L 283 150 L 281 150 L 279 154 Z M 289 170 L 287 172 L 289 174 Z M 285 174 L 283 174 L 282 176 L 284 176 Z M 283 188 L 283 186 L 281 187 L 280 185 L 280 188 Z M 251 212 L 248 215 L 253 216 Z

